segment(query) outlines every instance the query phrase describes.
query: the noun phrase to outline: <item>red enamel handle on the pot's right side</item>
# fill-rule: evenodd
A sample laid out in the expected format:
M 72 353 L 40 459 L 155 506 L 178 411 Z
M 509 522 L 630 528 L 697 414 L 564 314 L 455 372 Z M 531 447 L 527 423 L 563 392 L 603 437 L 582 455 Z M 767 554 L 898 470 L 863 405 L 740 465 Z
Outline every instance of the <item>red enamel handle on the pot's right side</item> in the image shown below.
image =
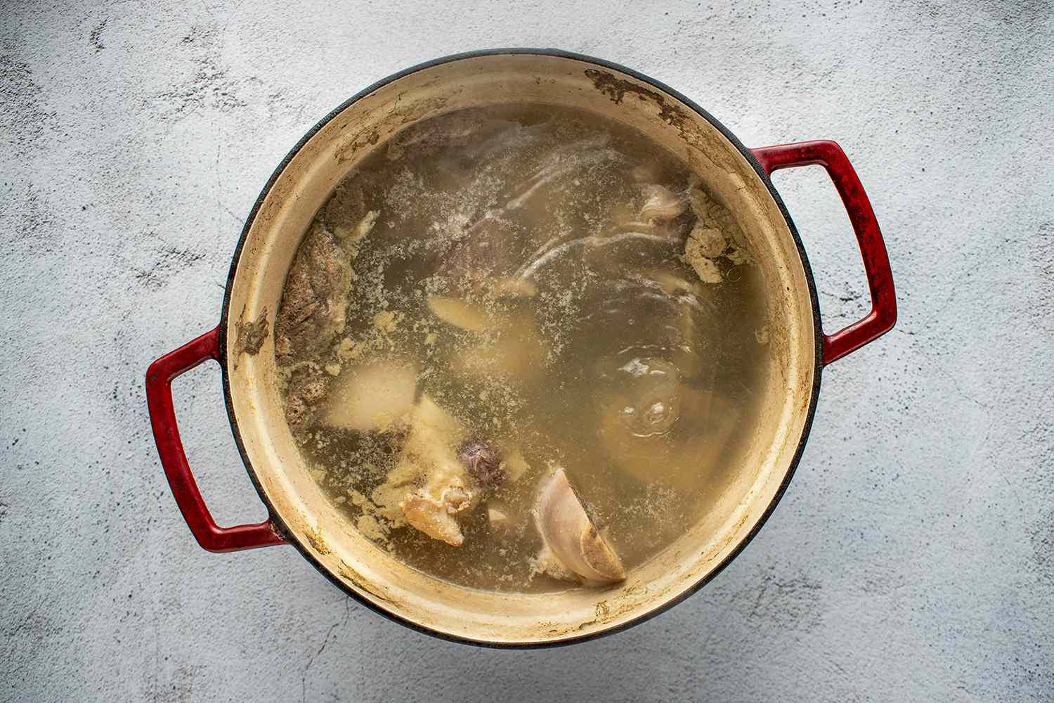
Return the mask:
M 823 365 L 826 366 L 882 336 L 897 321 L 893 272 L 890 270 L 890 258 L 885 254 L 885 243 L 878 229 L 878 220 L 875 219 L 875 211 L 871 209 L 867 194 L 863 192 L 860 178 L 853 170 L 845 152 L 834 141 L 799 141 L 750 151 L 768 174 L 798 165 L 819 164 L 826 169 L 856 232 L 867 287 L 871 289 L 871 312 L 863 319 L 834 334 L 823 335 Z

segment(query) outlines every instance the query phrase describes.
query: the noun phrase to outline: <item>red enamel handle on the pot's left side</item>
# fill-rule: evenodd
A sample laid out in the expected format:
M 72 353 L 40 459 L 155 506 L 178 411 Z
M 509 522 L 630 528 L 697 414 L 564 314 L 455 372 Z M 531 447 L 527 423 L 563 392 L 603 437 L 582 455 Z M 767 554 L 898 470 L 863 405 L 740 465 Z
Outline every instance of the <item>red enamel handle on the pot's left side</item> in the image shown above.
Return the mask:
M 157 453 L 172 486 L 176 505 L 191 528 L 198 544 L 209 551 L 235 551 L 284 544 L 274 521 L 269 519 L 256 525 L 219 527 L 209 513 L 201 491 L 191 474 L 183 443 L 176 427 L 176 411 L 172 405 L 172 379 L 190 371 L 208 359 L 219 360 L 219 328 L 206 332 L 188 341 L 150 365 L 147 370 L 147 405 L 150 423 L 154 428 Z

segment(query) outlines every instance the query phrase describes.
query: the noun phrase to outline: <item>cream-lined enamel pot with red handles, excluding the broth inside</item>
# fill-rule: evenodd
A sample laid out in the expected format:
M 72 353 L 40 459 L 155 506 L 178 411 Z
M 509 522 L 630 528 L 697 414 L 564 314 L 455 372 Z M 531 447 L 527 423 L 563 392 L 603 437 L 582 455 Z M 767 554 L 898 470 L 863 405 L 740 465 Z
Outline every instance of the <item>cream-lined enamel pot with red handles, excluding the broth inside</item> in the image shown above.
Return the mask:
M 396 561 L 340 516 L 308 472 L 286 423 L 271 333 L 286 274 L 315 211 L 370 149 L 407 124 L 491 102 L 583 108 L 636 126 L 688 162 L 738 218 L 762 269 L 769 306 L 766 403 L 749 461 L 718 508 L 674 545 L 604 589 L 516 594 L 473 590 Z M 820 325 L 801 240 L 769 174 L 823 165 L 848 211 L 872 310 L 834 334 Z M 489 646 L 566 644 L 626 628 L 695 592 L 738 554 L 773 511 L 801 456 L 824 366 L 889 331 L 893 277 L 878 222 L 853 167 L 833 141 L 747 149 L 665 85 L 606 61 L 552 50 L 451 56 L 370 86 L 316 124 L 278 165 L 246 220 L 219 325 L 154 362 L 147 399 L 161 465 L 198 543 L 211 551 L 291 544 L 334 584 L 410 627 Z M 179 440 L 171 382 L 219 362 L 234 440 L 270 518 L 219 527 Z

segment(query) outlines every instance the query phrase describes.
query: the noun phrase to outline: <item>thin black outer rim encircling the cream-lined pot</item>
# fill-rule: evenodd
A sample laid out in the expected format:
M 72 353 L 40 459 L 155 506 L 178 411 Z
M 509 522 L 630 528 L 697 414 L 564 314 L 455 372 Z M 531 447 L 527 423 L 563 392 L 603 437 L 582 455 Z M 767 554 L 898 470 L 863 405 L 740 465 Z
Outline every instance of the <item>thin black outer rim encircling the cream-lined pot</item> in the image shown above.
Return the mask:
M 631 76 L 637 80 L 648 83 L 651 86 L 658 89 L 659 91 L 674 98 L 677 98 L 682 103 L 691 109 L 694 112 L 696 112 L 700 117 L 702 117 L 707 122 L 713 124 L 719 132 L 721 132 L 721 134 L 724 135 L 724 137 L 728 139 L 728 141 L 731 142 L 731 144 L 736 147 L 737 150 L 739 150 L 739 152 L 746 158 L 749 164 L 754 168 L 755 172 L 761 177 L 762 182 L 764 182 L 765 188 L 768 190 L 769 196 L 772 196 L 772 198 L 776 201 L 776 204 L 779 207 L 780 213 L 783 215 L 783 219 L 786 221 L 787 228 L 790 231 L 790 236 L 794 237 L 795 247 L 797 248 L 798 255 L 801 258 L 801 263 L 805 271 L 805 280 L 807 281 L 808 285 L 808 295 L 813 308 L 813 328 L 815 337 L 814 339 L 815 368 L 813 370 L 813 388 L 809 394 L 808 408 L 806 409 L 806 415 L 805 415 L 805 423 L 802 426 L 802 432 L 801 432 L 801 437 L 798 441 L 798 447 L 795 450 L 794 456 L 790 460 L 790 464 L 787 467 L 786 473 L 783 476 L 783 481 L 780 483 L 779 488 L 776 490 L 776 494 L 773 496 L 772 502 L 765 508 L 765 511 L 762 513 L 757 524 L 755 524 L 754 528 L 742 540 L 740 540 L 739 544 L 737 544 L 736 547 L 730 552 L 728 552 L 728 554 L 721 561 L 721 563 L 718 564 L 714 569 L 711 569 L 710 572 L 707 573 L 705 577 L 701 578 L 690 587 L 685 589 L 684 592 L 680 593 L 677 598 L 668 601 L 667 603 L 664 603 L 661 606 L 652 608 L 651 610 L 648 610 L 647 612 L 644 612 L 632 620 L 622 623 L 621 625 L 610 627 L 608 629 L 599 632 L 592 632 L 589 634 L 583 634 L 580 637 L 573 637 L 563 640 L 554 640 L 552 642 L 525 642 L 525 643 L 488 642 L 485 640 L 474 640 L 471 638 L 458 637 L 455 634 L 450 634 L 448 632 L 442 632 L 438 630 L 431 629 L 429 627 L 425 627 L 424 625 L 407 620 L 406 618 L 403 618 L 397 613 L 390 612 L 389 610 L 386 610 L 383 607 L 374 605 L 370 601 L 366 600 L 365 598 L 356 593 L 351 588 L 348 588 L 343 582 L 340 582 L 337 578 L 331 574 L 325 567 L 323 567 L 323 565 L 315 560 L 315 558 L 307 550 L 307 548 L 304 545 L 301 545 L 299 541 L 296 540 L 295 535 L 289 533 L 289 531 L 286 529 L 285 524 L 282 524 L 281 519 L 278 518 L 277 514 L 275 513 L 274 506 L 268 500 L 267 494 L 264 492 L 264 488 L 260 482 L 256 477 L 256 473 L 252 468 L 252 463 L 250 462 L 249 455 L 246 452 L 245 443 L 241 440 L 241 433 L 238 429 L 238 424 L 235 419 L 234 404 L 231 398 L 230 376 L 228 373 L 228 366 L 227 366 L 227 354 L 228 354 L 227 328 L 230 316 L 231 292 L 234 287 L 234 276 L 238 268 L 238 260 L 241 257 L 242 248 L 245 247 L 246 239 L 249 236 L 249 231 L 250 229 L 252 229 L 253 221 L 255 220 L 256 215 L 259 212 L 260 206 L 264 203 L 264 199 L 267 197 L 268 193 L 270 193 L 271 188 L 274 185 L 275 181 L 278 179 L 278 176 L 281 174 L 281 172 L 286 169 L 286 167 L 293 159 L 293 157 L 296 156 L 296 154 L 300 151 L 300 149 L 302 149 L 304 145 L 311 139 L 311 137 L 313 137 L 323 126 L 325 126 L 330 120 L 332 120 L 338 114 L 344 112 L 344 110 L 346 110 L 352 103 L 366 97 L 367 95 L 373 93 L 374 91 L 387 85 L 388 83 L 391 83 L 392 81 L 403 78 L 404 76 L 408 76 L 418 71 L 432 69 L 434 66 L 444 63 L 450 63 L 452 61 L 472 59 L 481 56 L 520 55 L 520 54 L 533 55 L 533 56 L 554 56 L 559 58 L 574 59 L 577 61 L 582 61 L 584 63 L 591 63 L 593 65 L 601 66 L 603 69 L 609 69 L 612 71 L 621 72 L 623 74 Z M 675 605 L 681 603 L 689 595 L 692 595 L 694 593 L 699 591 L 699 589 L 701 589 L 703 586 L 705 586 L 711 580 L 714 580 L 719 573 L 721 573 L 721 571 L 723 571 L 725 567 L 727 567 L 728 564 L 731 563 L 731 561 L 736 559 L 736 556 L 738 556 L 740 552 L 743 551 L 746 545 L 748 545 L 754 540 L 758 531 L 761 530 L 764 524 L 768 521 L 768 518 L 776 509 L 777 504 L 779 504 L 780 500 L 783 497 L 783 494 L 786 492 L 786 488 L 789 485 L 792 477 L 794 477 L 795 470 L 798 468 L 798 463 L 801 461 L 802 452 L 805 449 L 805 443 L 808 441 L 809 430 L 812 429 L 813 426 L 813 417 L 816 414 L 816 404 L 820 393 L 820 379 L 823 371 L 822 350 L 823 350 L 823 330 L 820 320 L 820 305 L 816 293 L 816 281 L 813 276 L 813 270 L 808 263 L 808 257 L 805 254 L 805 248 L 802 246 L 801 237 L 798 235 L 798 230 L 795 227 L 794 221 L 790 219 L 790 213 L 787 212 L 786 206 L 783 203 L 782 198 L 780 198 L 779 193 L 773 185 L 772 179 L 769 178 L 765 170 L 761 168 L 761 164 L 758 162 L 757 158 L 755 158 L 753 152 L 750 152 L 749 149 L 743 145 L 743 143 L 736 137 L 736 135 L 734 135 L 717 118 L 715 118 L 708 112 L 706 112 L 698 104 L 696 104 L 695 101 L 689 100 L 687 97 L 675 91 L 665 83 L 662 83 L 653 78 L 645 76 L 642 73 L 633 71 L 632 69 L 627 69 L 626 66 L 620 65 L 618 63 L 612 63 L 604 59 L 598 59 L 591 56 L 585 56 L 572 52 L 565 52 L 559 48 L 521 48 L 521 47 L 487 48 L 473 52 L 465 52 L 462 54 L 451 54 L 449 56 L 444 56 L 437 59 L 432 59 L 430 61 L 425 61 L 423 63 L 410 66 L 409 69 L 399 71 L 398 73 L 394 73 L 388 76 L 387 78 L 383 78 L 373 83 L 372 85 L 359 91 L 358 93 L 356 93 L 355 95 L 351 96 L 350 98 L 341 102 L 339 105 L 337 105 L 328 115 L 321 118 L 314 126 L 312 126 L 307 132 L 307 134 L 305 134 L 300 138 L 300 140 L 296 142 L 296 145 L 293 147 L 293 149 L 291 149 L 288 154 L 286 154 L 286 157 L 282 158 L 281 162 L 271 174 L 271 177 L 268 178 L 267 183 L 264 185 L 264 189 L 260 191 L 259 196 L 253 203 L 253 208 L 249 213 L 249 217 L 246 218 L 245 224 L 241 228 L 241 235 L 238 237 L 238 242 L 234 249 L 234 255 L 231 260 L 231 268 L 227 276 L 227 286 L 223 291 L 223 302 L 219 319 L 219 367 L 223 384 L 223 403 L 227 406 L 227 415 L 231 424 L 231 433 L 234 435 L 235 445 L 238 448 L 238 453 L 241 456 L 242 464 L 245 464 L 246 472 L 249 474 L 250 481 L 252 481 L 253 486 L 256 488 L 256 492 L 259 494 L 260 500 L 264 502 L 264 505 L 267 506 L 268 512 L 271 515 L 271 520 L 274 522 L 275 525 L 280 527 L 284 533 L 287 534 L 287 536 L 289 538 L 289 543 L 294 547 L 296 547 L 297 551 L 299 551 L 300 554 L 312 566 L 314 566 L 323 575 L 325 575 L 335 586 L 337 586 L 337 588 L 348 593 L 351 598 L 355 599 L 355 601 L 366 606 L 370 610 L 373 610 L 374 612 L 384 616 L 385 618 L 392 620 L 401 625 L 409 627 L 410 629 L 423 632 L 425 634 L 429 634 L 431 637 L 438 638 L 441 640 L 446 640 L 449 642 L 457 642 L 462 644 L 476 645 L 481 647 L 499 648 L 499 649 L 539 649 L 546 647 L 559 647 L 559 646 L 575 644 L 579 642 L 584 642 L 587 640 L 596 640 L 602 637 L 607 637 L 609 634 L 614 634 L 616 632 L 621 632 L 635 625 L 639 625 L 647 620 L 650 620 L 651 618 L 655 618 L 665 612 L 666 610 L 672 608 Z

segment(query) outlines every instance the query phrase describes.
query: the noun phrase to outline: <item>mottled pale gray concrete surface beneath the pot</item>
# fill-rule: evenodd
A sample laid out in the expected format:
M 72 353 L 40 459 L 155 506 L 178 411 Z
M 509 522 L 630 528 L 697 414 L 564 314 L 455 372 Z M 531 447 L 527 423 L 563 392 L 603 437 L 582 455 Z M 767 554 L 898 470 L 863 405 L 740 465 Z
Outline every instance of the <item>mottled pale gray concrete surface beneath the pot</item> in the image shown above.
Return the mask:
M 1045 2 L 3 3 L 0 699 L 1054 699 L 1052 41 Z M 143 398 L 317 118 L 502 45 L 633 66 L 747 144 L 839 140 L 901 306 L 828 369 L 784 502 L 717 581 L 545 651 L 411 632 L 291 548 L 198 549 Z M 866 289 L 814 171 L 777 185 L 831 328 Z M 183 437 L 220 522 L 258 519 L 218 378 L 176 384 Z

